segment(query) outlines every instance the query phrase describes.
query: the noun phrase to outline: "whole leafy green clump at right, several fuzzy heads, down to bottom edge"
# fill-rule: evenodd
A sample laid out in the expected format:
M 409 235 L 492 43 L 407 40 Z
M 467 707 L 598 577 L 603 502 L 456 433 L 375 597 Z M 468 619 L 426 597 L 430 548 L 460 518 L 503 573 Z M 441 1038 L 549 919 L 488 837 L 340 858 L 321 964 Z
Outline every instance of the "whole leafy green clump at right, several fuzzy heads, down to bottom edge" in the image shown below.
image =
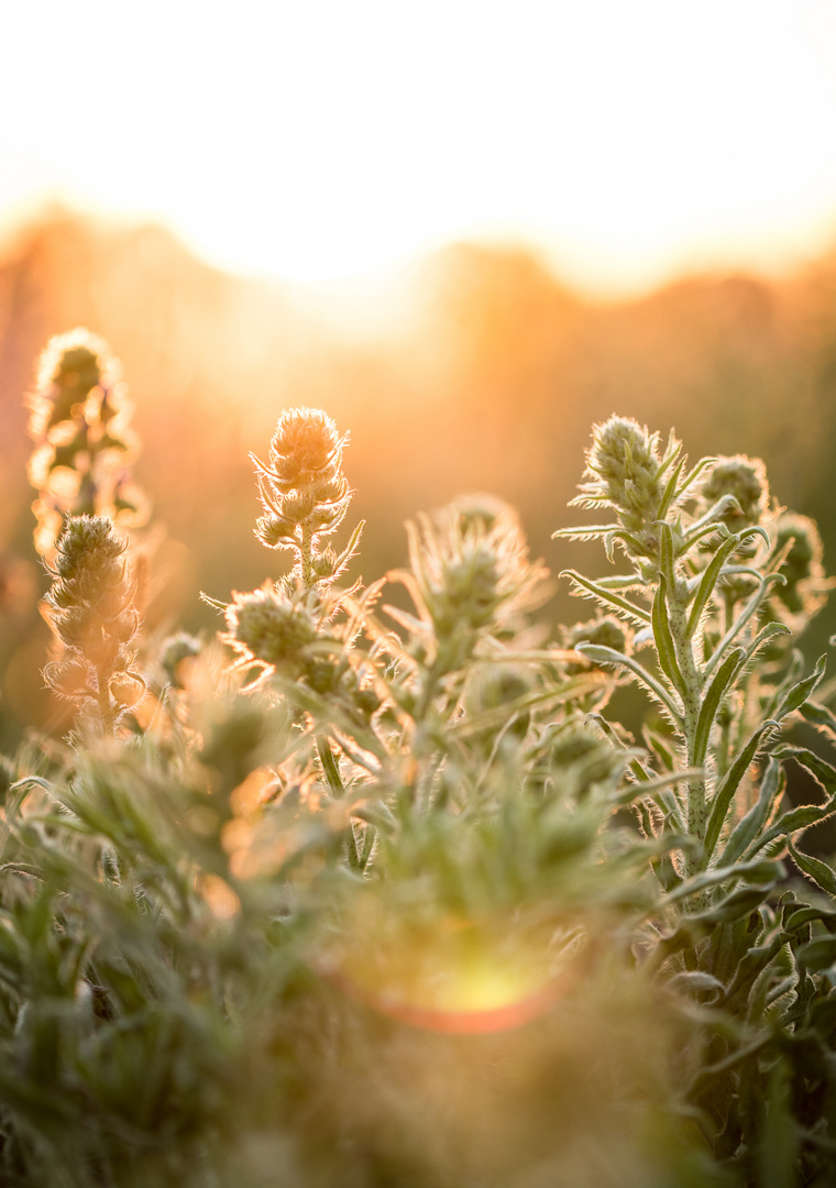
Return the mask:
M 636 628 L 656 663 L 602 643 L 575 646 L 628 674 L 667 719 L 631 764 L 632 800 L 667 854 L 653 862 L 652 962 L 711 1005 L 705 1062 L 685 1079 L 689 1108 L 747 1183 L 766 1183 L 773 1162 L 770 1183 L 802 1182 L 799 1168 L 831 1167 L 815 1097 L 834 1081 L 797 1062 L 805 1044 L 817 1059 L 830 1053 L 822 1020 L 834 1006 L 825 966 L 836 958 L 836 874 L 799 838 L 836 813 L 836 767 L 780 732 L 800 713 L 834 738 L 836 719 L 811 700 L 825 658 L 804 676 L 800 653 L 775 644 L 822 604 L 821 549 L 808 523 L 777 519 L 760 461 L 704 459 L 685 473 L 679 443 L 671 436 L 660 457 L 658 436 L 634 421 L 595 426 L 587 475 L 576 503 L 609 507 L 614 520 L 556 535 L 602 537 L 610 560 L 618 543 L 627 565 L 600 581 L 568 576 Z M 787 758 L 821 784 L 823 803 L 785 804 Z M 787 886 L 783 855 L 816 893 Z

